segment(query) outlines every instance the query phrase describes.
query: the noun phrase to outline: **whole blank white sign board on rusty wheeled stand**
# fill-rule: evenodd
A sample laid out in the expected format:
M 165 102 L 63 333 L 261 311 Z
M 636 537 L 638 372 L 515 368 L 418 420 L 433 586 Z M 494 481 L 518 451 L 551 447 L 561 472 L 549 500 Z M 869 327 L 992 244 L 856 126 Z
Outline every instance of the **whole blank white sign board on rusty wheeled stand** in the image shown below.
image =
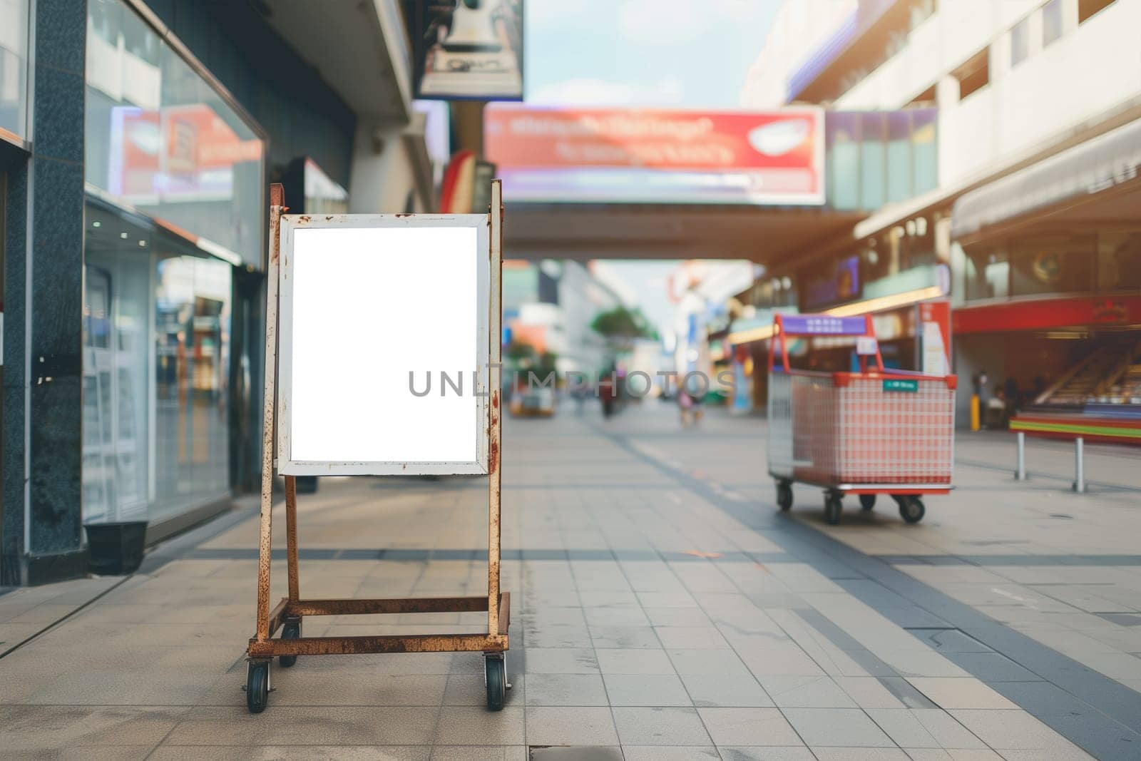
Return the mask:
M 246 705 L 265 710 L 274 657 L 292 666 L 300 655 L 476 651 L 485 654 L 487 707 L 497 711 L 510 687 L 509 596 L 500 592 L 500 181 L 492 183 L 486 216 L 291 216 L 281 185 L 269 195 L 258 610 Z M 422 394 L 428 373 L 440 369 L 451 373 L 452 394 L 443 394 L 443 379 Z M 275 468 L 285 479 L 289 596 L 270 606 Z M 418 473 L 487 476 L 487 594 L 302 599 L 296 476 Z M 302 634 L 310 616 L 483 610 L 486 632 Z

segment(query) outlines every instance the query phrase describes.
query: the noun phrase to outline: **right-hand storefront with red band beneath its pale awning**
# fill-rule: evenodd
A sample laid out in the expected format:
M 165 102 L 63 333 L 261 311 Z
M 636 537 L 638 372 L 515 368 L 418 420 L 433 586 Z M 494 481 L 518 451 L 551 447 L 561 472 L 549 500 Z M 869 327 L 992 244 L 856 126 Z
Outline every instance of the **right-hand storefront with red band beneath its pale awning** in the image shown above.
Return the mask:
M 956 369 L 1012 410 L 1141 396 L 1139 146 L 1133 121 L 955 204 Z

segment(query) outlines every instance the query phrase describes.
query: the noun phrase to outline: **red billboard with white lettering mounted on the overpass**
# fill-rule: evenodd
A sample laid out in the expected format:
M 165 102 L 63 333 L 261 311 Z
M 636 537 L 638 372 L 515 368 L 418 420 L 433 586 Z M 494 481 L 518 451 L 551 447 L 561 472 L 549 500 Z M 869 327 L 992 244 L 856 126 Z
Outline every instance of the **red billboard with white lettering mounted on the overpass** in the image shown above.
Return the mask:
M 824 113 L 493 103 L 484 151 L 515 201 L 824 203 Z

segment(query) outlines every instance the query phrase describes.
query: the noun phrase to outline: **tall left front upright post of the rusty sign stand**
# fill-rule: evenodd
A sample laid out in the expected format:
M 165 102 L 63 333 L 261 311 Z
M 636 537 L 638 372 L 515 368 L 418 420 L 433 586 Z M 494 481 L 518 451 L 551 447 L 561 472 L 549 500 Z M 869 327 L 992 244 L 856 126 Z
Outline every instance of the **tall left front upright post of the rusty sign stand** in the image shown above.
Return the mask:
M 277 266 L 282 207 L 285 188 L 269 186 L 269 261 L 266 266 L 266 364 L 265 404 L 261 414 L 261 534 L 258 543 L 258 631 L 257 639 L 269 639 L 269 553 L 273 549 L 272 512 L 274 502 L 274 412 L 277 392 Z

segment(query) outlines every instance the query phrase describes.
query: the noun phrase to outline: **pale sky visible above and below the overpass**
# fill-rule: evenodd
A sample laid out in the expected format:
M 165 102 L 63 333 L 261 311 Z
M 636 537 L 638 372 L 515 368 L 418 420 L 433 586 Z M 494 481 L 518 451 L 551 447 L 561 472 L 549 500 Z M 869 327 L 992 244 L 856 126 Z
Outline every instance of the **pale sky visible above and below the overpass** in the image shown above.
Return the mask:
M 779 7 L 780 0 L 526 0 L 526 100 L 734 107 Z M 605 266 L 658 332 L 672 330 L 665 283 L 678 262 Z

